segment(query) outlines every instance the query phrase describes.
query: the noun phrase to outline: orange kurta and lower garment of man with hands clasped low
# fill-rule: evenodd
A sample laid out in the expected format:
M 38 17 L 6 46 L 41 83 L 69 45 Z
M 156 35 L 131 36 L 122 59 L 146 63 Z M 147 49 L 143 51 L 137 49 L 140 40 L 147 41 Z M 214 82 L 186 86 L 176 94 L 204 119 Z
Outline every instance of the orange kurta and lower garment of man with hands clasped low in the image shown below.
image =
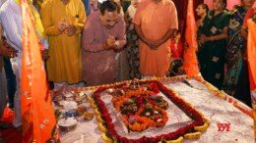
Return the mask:
M 151 40 L 159 40 L 169 28 L 178 28 L 175 5 L 170 0 L 161 0 L 158 4 L 153 0 L 144 0 L 139 4 L 133 19 L 134 24 L 142 28 L 144 36 Z M 163 76 L 169 69 L 169 40 L 160 45 L 158 50 L 152 50 L 139 41 L 140 71 L 143 75 Z

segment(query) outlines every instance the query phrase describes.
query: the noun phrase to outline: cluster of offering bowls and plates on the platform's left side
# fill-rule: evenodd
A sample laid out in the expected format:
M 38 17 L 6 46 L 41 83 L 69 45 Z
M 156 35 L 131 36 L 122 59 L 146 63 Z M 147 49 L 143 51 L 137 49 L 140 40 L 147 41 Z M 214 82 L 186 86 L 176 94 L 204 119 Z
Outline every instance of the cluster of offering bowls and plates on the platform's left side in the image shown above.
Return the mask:
M 83 91 L 63 90 L 53 97 L 55 116 L 61 131 L 75 130 L 77 124 L 94 119 L 94 110 Z

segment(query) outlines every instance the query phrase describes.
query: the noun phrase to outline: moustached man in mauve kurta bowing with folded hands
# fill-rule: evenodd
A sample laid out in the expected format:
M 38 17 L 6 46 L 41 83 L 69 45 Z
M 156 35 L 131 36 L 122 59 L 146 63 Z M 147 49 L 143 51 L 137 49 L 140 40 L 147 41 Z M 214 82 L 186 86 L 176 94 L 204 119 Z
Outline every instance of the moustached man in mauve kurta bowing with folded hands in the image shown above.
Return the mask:
M 82 39 L 83 75 L 88 86 L 116 81 L 116 52 L 126 43 L 125 23 L 115 2 L 107 0 L 91 14 Z

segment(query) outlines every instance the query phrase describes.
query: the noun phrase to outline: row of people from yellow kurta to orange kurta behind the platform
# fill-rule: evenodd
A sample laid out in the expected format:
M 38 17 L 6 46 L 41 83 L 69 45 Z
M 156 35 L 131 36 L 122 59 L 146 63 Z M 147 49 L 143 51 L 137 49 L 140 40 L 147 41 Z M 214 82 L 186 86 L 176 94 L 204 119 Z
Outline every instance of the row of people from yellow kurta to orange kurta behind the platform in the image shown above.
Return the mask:
M 48 80 L 54 82 L 55 88 L 63 84 L 80 86 L 78 84 L 83 85 L 83 81 L 86 86 L 94 86 L 129 79 L 134 64 L 127 60 L 127 55 L 140 59 L 139 78 L 166 74 L 170 61 L 169 39 L 178 28 L 175 6 L 169 0 L 138 3 L 132 0 L 125 14 L 119 1 L 93 4 L 91 10 L 94 6 L 94 11 L 86 21 L 85 7 L 82 8 L 83 5 L 75 0 L 67 1 L 66 5 L 54 0 L 42 4 L 41 20 L 50 47 L 46 68 Z M 156 11 L 152 12 L 152 8 Z M 68 10 L 66 13 L 71 18 L 52 12 L 58 10 L 65 13 L 64 9 Z M 70 35 L 65 34 L 65 27 L 74 23 L 77 23 L 73 28 L 76 29 L 76 36 L 71 40 Z M 134 45 L 137 47 L 134 48 Z M 130 54 L 124 49 L 131 50 Z M 132 56 L 134 50 L 139 56 Z

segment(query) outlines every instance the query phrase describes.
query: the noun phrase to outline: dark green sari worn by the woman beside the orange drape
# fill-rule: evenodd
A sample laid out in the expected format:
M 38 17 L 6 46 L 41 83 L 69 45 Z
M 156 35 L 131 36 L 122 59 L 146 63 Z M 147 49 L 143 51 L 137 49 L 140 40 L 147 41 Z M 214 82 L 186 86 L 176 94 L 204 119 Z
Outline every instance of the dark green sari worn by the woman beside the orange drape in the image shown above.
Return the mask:
M 214 16 L 214 11 L 210 11 L 203 24 L 198 28 L 198 36 L 205 34 L 211 37 L 222 34 L 228 23 L 229 15 L 226 12 Z M 200 71 L 203 77 L 219 89 L 223 88 L 224 82 L 225 45 L 225 39 L 208 41 L 200 45 L 198 53 Z

